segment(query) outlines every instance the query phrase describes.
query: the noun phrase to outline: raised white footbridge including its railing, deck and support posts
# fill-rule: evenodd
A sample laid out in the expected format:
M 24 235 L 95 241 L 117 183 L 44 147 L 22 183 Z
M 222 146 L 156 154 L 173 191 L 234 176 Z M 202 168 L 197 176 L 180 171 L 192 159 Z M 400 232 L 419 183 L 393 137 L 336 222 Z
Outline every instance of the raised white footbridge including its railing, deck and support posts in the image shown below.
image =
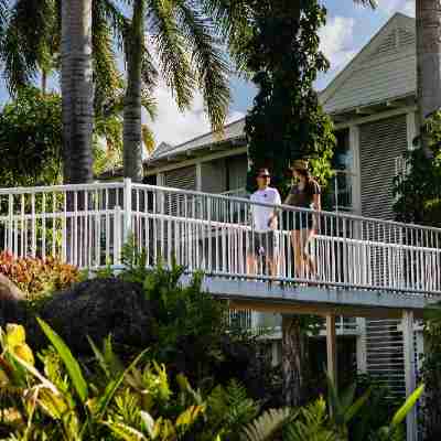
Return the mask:
M 410 394 L 413 318 L 441 300 L 441 229 L 277 206 L 277 270 L 269 273 L 263 259 L 247 268 L 255 245 L 254 205 L 230 195 L 130 180 L 1 189 L 0 248 L 93 269 L 120 266 L 123 244 L 133 237 L 138 249 L 146 250 L 147 266 L 175 262 L 190 273 L 202 271 L 204 288 L 228 299 L 232 308 L 326 316 L 334 375 L 336 315 L 401 318 Z M 318 271 L 297 273 L 291 229 L 312 218 L 318 234 L 309 248 Z M 408 439 L 413 439 L 415 413 L 408 421 Z

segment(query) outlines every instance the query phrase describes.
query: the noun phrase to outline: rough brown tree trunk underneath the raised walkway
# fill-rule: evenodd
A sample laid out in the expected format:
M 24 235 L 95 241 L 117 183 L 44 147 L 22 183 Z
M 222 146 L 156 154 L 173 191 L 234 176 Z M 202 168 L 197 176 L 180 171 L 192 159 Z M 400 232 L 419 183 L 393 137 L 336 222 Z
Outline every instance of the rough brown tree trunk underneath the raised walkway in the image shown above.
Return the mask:
M 282 316 L 283 398 L 290 407 L 305 400 L 309 373 L 308 335 L 302 331 L 299 315 Z

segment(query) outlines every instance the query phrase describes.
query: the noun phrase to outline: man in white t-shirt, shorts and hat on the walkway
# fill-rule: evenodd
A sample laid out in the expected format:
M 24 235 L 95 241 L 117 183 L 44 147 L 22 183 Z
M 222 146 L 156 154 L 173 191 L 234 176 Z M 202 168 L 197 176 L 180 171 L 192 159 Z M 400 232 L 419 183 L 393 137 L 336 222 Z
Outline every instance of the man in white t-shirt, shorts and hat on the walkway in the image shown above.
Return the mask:
M 251 195 L 252 228 L 248 244 L 247 270 L 257 272 L 257 259 L 265 258 L 270 276 L 277 276 L 279 261 L 279 240 L 277 237 L 276 207 L 258 204 L 280 205 L 280 194 L 269 186 L 271 176 L 268 169 L 257 172 L 257 191 Z M 252 203 L 257 203 L 256 205 Z

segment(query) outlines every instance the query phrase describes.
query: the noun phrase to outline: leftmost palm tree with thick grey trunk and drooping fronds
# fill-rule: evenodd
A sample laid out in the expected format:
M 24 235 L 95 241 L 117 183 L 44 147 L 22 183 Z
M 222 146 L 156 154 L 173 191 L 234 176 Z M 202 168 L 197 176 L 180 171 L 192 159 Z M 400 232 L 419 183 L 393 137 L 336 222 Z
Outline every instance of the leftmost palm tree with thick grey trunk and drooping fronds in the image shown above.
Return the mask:
M 122 105 L 118 105 L 118 101 L 121 103 L 125 84 L 117 67 L 114 43 L 122 41 L 128 21 L 110 0 L 93 0 L 92 7 L 92 62 L 88 60 L 89 46 L 88 53 L 83 53 L 87 56 L 86 58 L 83 56 L 80 64 L 77 63 L 73 53 L 64 56 L 64 63 L 62 63 L 63 93 L 65 87 L 71 88 L 67 97 L 66 93 L 63 94 L 65 99 L 63 110 L 66 135 L 64 146 L 66 182 L 87 182 L 92 179 L 90 116 L 94 116 L 94 111 L 90 111 L 90 103 L 94 104 L 97 117 L 105 117 L 112 111 L 122 111 Z M 15 2 L 4 0 L 0 2 L 0 56 L 11 95 L 15 94 L 20 87 L 32 84 L 39 75 L 42 89 L 45 90 L 49 75 L 52 71 L 60 69 L 62 24 L 65 25 L 64 28 L 74 24 L 74 21 L 69 21 L 71 18 L 66 19 L 66 15 L 63 17 L 61 12 L 68 13 L 67 17 L 71 17 L 75 8 L 78 10 L 77 6 L 74 8 L 74 3 L 69 3 L 68 8 L 64 8 L 62 0 L 17 0 Z M 86 12 L 86 15 L 89 17 L 90 12 Z M 63 23 L 62 18 L 64 19 Z M 77 51 L 82 52 L 79 40 Z M 66 45 L 71 47 L 71 40 L 64 40 L 64 47 Z M 85 60 L 87 60 L 86 64 Z M 93 69 L 90 69 L 90 63 Z M 80 72 L 84 74 L 86 65 L 88 67 L 85 89 L 77 87 L 80 83 L 74 77 L 69 77 L 66 68 L 74 67 L 75 75 L 79 75 Z M 90 90 L 90 77 L 94 96 Z M 82 126 L 78 125 L 78 116 L 67 104 L 82 108 L 78 107 L 82 101 L 71 98 L 73 98 L 72 93 L 83 94 L 85 90 L 89 90 L 86 116 L 88 122 Z M 69 138 L 75 136 L 75 139 L 78 140 L 78 133 L 75 135 L 75 132 L 78 129 L 83 132 L 85 128 L 87 128 L 87 136 L 82 137 L 82 142 Z M 67 137 L 68 133 L 71 133 L 69 137 Z

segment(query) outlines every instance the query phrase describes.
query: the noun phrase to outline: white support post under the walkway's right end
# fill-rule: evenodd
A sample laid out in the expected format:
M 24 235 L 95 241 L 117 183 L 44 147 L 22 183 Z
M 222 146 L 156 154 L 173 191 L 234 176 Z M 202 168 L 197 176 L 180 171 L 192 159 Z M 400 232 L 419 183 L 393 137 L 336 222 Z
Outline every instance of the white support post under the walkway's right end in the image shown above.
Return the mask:
M 417 387 L 415 368 L 415 337 L 413 337 L 413 312 L 402 313 L 402 336 L 405 349 L 405 376 L 406 376 L 406 397 L 409 397 Z M 417 441 L 417 409 L 413 407 L 407 415 L 407 441 Z

